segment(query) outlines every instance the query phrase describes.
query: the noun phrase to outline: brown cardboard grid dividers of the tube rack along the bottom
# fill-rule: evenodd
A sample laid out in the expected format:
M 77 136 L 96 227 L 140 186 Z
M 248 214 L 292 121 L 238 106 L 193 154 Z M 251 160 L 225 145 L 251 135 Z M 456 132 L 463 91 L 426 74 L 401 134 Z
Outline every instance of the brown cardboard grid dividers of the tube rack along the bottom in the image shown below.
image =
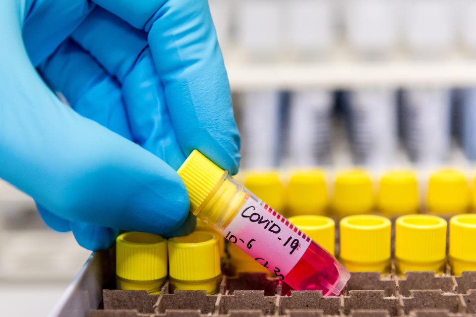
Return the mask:
M 338 228 L 336 228 L 338 229 Z M 336 230 L 338 232 L 338 230 Z M 338 233 L 336 249 L 338 249 Z M 393 239 L 392 239 L 393 240 Z M 176 291 L 160 295 L 103 290 L 102 309 L 91 317 L 476 317 L 476 271 L 452 276 L 431 271 L 353 272 L 340 296 L 294 291 L 266 273 L 240 273 L 224 264 L 220 292 Z

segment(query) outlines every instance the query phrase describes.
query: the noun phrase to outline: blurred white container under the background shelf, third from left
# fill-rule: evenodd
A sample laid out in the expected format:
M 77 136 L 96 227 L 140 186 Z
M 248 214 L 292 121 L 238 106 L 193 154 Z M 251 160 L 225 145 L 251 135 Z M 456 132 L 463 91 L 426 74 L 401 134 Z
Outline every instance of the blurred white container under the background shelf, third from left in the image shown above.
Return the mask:
M 398 120 L 394 89 L 362 88 L 351 91 L 346 118 L 351 149 L 357 164 L 378 167 L 395 160 Z

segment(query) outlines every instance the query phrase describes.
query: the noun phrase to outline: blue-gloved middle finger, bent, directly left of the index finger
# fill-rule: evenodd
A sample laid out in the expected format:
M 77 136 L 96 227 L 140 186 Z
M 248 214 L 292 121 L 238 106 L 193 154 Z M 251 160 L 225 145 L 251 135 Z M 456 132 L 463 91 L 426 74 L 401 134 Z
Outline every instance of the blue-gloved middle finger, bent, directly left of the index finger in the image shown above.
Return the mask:
M 178 169 L 185 155 L 170 120 L 145 32 L 97 7 L 71 37 L 122 84 L 134 141 Z

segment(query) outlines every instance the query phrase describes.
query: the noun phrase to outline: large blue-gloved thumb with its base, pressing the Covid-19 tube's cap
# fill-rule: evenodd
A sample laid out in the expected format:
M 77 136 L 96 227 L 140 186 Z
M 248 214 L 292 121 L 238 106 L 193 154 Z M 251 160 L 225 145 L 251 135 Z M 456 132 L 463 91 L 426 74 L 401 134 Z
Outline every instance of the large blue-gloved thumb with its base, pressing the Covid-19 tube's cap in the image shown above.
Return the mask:
M 157 234 L 188 196 L 163 160 L 64 106 L 30 63 L 17 7 L 0 1 L 0 177 L 68 220 Z

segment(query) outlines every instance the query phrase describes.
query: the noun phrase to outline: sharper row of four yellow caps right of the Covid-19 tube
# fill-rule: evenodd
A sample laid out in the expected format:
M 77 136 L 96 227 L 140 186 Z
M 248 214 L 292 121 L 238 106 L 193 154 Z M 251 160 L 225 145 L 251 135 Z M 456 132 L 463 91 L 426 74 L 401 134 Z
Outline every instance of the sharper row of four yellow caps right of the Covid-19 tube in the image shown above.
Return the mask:
M 290 221 L 334 254 L 334 220 L 325 216 L 295 216 Z M 390 271 L 390 219 L 379 215 L 352 215 L 340 220 L 340 261 L 350 271 Z M 406 271 L 446 270 L 445 219 L 430 214 L 403 215 L 395 221 L 395 264 Z M 476 270 L 476 214 L 451 217 L 448 259 L 451 273 Z

